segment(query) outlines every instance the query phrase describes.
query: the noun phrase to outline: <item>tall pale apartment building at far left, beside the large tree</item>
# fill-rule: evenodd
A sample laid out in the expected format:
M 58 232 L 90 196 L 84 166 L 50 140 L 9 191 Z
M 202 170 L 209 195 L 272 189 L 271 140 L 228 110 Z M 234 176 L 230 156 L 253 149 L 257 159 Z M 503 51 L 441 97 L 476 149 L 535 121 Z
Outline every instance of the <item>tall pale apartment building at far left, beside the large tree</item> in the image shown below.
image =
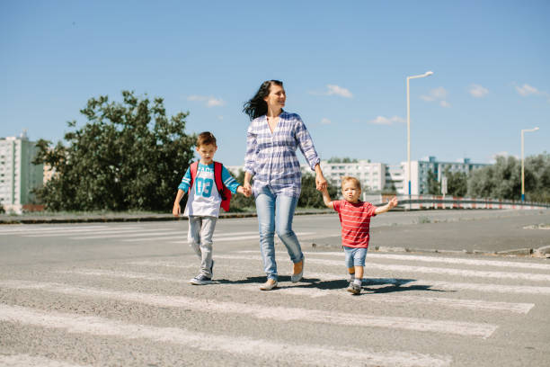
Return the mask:
M 32 189 L 40 187 L 43 165 L 33 165 L 35 142 L 25 131 L 19 137 L 0 139 L 0 204 L 6 211 L 21 213 L 22 206 L 32 203 Z

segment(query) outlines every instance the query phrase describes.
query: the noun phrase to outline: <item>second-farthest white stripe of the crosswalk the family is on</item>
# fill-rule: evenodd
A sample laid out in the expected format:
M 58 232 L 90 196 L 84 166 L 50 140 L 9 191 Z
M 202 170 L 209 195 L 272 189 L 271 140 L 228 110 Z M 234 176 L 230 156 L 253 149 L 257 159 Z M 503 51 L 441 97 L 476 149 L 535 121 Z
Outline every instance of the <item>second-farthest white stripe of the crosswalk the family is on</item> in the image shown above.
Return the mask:
M 226 259 L 241 259 L 241 260 L 258 260 L 260 261 L 261 256 L 251 256 L 251 255 L 223 255 L 217 256 L 218 258 Z M 307 258 L 307 263 L 309 264 L 324 264 L 324 265 L 333 265 L 333 266 L 343 266 L 343 260 L 325 260 L 325 259 L 315 259 L 313 257 Z M 426 267 L 426 266 L 412 266 L 412 265 L 399 265 L 399 264 L 377 264 L 377 263 L 368 263 L 365 265 L 367 269 L 377 269 L 391 272 L 409 272 L 409 273 L 436 273 L 436 274 L 448 274 L 448 275 L 459 275 L 464 277 L 479 277 L 479 278 L 497 278 L 497 279 L 516 279 L 516 280 L 525 280 L 525 281 L 537 281 L 537 282 L 550 282 L 550 274 L 537 274 L 537 273 L 505 273 L 505 272 L 484 272 L 480 270 L 463 270 L 463 269 L 452 269 L 452 268 L 441 268 L 441 267 Z

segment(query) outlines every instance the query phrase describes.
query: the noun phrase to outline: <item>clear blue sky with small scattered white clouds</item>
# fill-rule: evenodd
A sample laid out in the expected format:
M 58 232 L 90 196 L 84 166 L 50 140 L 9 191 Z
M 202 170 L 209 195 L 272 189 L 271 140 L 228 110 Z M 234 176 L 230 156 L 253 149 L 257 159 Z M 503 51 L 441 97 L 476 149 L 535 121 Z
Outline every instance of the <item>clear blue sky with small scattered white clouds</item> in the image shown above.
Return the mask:
M 550 151 L 550 2 L 0 0 L 0 137 L 63 139 L 121 91 L 189 112 L 242 165 L 243 105 L 287 91 L 322 159 L 492 163 Z M 299 154 L 298 154 L 299 155 Z

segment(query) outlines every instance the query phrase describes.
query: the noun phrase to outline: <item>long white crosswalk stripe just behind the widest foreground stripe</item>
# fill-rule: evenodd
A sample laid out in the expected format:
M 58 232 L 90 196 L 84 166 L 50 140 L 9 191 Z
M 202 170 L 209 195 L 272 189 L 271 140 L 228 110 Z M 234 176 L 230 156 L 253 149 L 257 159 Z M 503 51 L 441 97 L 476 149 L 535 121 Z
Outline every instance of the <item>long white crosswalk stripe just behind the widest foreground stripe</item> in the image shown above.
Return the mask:
M 359 315 L 316 309 L 269 307 L 219 300 L 212 302 L 212 300 L 198 300 L 182 296 L 163 296 L 159 294 L 137 292 L 104 291 L 88 287 L 71 287 L 64 284 L 49 282 L 0 281 L 0 285 L 11 289 L 31 289 L 74 296 L 102 297 L 109 300 L 127 300 L 157 307 L 174 307 L 194 309 L 197 311 L 233 313 L 259 319 L 271 318 L 283 322 L 306 321 L 343 326 L 396 328 L 402 330 L 455 334 L 459 336 L 478 336 L 483 338 L 491 336 L 497 329 L 497 326 L 494 325 L 472 322 L 431 320 L 427 318 L 385 317 L 367 314 Z M 258 291 L 257 286 L 255 288 L 256 291 Z

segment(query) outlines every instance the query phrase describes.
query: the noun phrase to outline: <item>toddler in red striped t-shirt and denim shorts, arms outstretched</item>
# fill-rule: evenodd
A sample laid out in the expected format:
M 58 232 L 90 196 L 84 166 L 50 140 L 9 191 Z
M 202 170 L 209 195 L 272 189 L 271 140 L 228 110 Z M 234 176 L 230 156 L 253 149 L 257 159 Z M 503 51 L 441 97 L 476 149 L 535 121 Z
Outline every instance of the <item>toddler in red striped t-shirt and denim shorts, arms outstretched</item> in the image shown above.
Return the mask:
M 323 191 L 324 205 L 338 211 L 342 224 L 342 246 L 346 254 L 346 266 L 350 273 L 348 291 L 353 294 L 361 292 L 363 280 L 363 266 L 368 249 L 368 227 L 370 217 L 384 213 L 397 205 L 397 198 L 393 197 L 386 205 L 376 207 L 370 202 L 359 201 L 361 184 L 355 177 L 342 177 L 342 196 L 344 200 L 331 201 L 328 190 Z

